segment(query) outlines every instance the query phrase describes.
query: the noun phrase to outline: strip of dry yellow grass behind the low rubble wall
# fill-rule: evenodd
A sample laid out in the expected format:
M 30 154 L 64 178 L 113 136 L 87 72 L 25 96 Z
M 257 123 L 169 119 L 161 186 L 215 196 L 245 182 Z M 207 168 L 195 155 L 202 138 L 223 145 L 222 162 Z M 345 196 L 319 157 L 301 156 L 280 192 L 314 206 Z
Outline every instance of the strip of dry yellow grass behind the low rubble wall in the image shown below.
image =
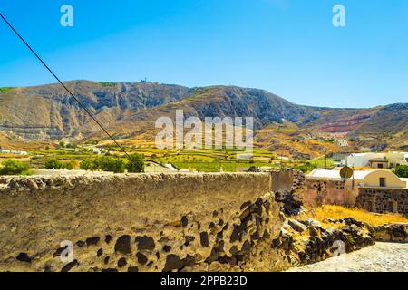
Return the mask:
M 300 215 L 298 218 L 314 218 L 327 225 L 330 224 L 327 218 L 355 218 L 372 226 L 380 226 L 389 223 L 408 223 L 408 218 L 405 218 L 399 214 L 376 214 L 361 208 L 345 208 L 333 205 L 325 205 L 318 208 L 309 208 L 305 214 Z

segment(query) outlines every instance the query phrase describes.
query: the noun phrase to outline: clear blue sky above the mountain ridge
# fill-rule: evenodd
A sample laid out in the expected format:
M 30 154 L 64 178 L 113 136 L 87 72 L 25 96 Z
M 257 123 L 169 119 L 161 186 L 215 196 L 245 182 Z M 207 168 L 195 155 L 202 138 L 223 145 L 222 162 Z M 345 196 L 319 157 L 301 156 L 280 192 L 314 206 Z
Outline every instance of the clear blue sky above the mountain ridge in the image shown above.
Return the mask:
M 73 5 L 73 27 L 60 7 Z M 345 6 L 346 26 L 332 8 Z M 2 0 L 64 81 L 234 84 L 291 102 L 408 102 L 406 0 Z M 0 22 L 0 87 L 55 82 Z

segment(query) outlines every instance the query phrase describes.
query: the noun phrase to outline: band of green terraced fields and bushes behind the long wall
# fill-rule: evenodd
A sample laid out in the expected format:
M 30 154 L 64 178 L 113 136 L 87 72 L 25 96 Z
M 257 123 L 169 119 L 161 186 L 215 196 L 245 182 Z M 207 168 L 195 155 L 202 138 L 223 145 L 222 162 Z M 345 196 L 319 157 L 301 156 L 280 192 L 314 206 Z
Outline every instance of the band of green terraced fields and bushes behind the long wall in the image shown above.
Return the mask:
M 112 144 L 102 145 L 101 148 L 109 150 L 105 156 L 97 156 L 89 148 L 81 146 L 76 150 L 61 149 L 67 146 L 75 146 L 61 143 L 60 149 L 30 151 L 29 161 L 33 168 L 47 169 L 84 169 L 103 170 L 115 173 L 143 172 L 146 160 L 161 164 L 173 164 L 178 169 L 192 169 L 199 172 L 238 172 L 246 171 L 250 167 L 268 168 L 295 168 L 309 172 L 316 168 L 325 168 L 325 158 L 316 160 L 280 160 L 274 152 L 255 148 L 253 158 L 238 159 L 238 154 L 243 150 L 237 149 L 173 149 L 160 150 L 152 147 L 124 146 L 130 153 L 133 162 L 130 162 L 121 154 L 121 150 Z M 283 164 L 280 164 L 282 161 Z M 333 168 L 334 162 L 327 158 L 327 168 Z

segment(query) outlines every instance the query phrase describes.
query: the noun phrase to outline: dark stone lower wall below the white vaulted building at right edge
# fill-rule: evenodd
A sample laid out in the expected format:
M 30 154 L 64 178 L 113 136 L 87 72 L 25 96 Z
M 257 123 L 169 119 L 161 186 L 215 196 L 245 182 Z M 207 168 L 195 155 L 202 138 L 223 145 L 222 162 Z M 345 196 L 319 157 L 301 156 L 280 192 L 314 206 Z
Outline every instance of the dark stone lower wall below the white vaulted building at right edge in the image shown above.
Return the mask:
M 358 207 L 378 213 L 400 213 L 408 217 L 408 189 L 360 188 L 358 191 Z

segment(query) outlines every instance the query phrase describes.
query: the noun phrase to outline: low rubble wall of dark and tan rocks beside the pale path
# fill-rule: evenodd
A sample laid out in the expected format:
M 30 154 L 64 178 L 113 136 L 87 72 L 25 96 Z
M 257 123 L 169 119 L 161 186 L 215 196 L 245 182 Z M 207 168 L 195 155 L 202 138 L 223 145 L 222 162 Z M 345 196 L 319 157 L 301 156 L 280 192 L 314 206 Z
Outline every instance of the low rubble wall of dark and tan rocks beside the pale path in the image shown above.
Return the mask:
M 285 251 L 292 266 L 303 266 L 381 242 L 408 241 L 408 225 L 373 227 L 354 218 L 330 219 L 323 227 L 313 218 L 287 219 L 272 247 Z

